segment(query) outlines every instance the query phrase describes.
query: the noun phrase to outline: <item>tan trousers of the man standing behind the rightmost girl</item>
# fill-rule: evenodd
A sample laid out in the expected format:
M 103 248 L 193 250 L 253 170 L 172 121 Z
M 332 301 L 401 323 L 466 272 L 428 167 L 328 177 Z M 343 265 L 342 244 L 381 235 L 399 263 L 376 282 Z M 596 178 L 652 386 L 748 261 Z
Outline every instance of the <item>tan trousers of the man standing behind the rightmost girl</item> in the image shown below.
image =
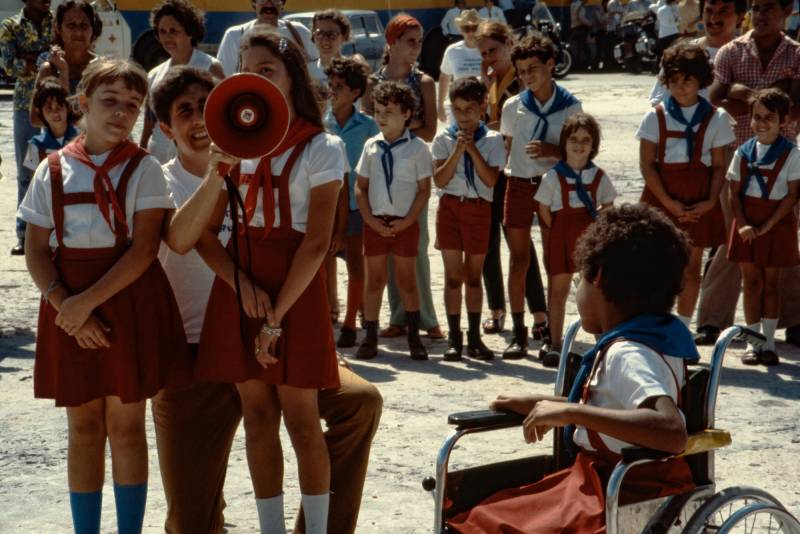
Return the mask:
M 725 225 L 730 231 L 733 221 L 728 186 L 720 195 Z M 697 305 L 697 326 L 715 326 L 720 330 L 733 324 L 739 293 L 742 291 L 742 273 L 739 265 L 728 258 L 728 246 L 717 248 L 708 272 L 700 283 L 700 302 Z M 783 269 L 780 279 L 780 312 L 778 327 L 800 325 L 800 266 Z

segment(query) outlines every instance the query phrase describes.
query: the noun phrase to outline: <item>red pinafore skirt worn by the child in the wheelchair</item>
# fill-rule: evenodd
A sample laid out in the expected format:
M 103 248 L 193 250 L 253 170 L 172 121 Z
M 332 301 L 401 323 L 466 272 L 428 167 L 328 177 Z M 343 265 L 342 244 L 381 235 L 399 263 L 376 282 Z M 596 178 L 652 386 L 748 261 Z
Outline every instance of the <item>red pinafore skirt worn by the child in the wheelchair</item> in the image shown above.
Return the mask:
M 589 396 L 592 376 L 607 350 L 608 347 L 595 360 L 584 386 L 584 403 Z M 680 393 L 678 395 L 680 405 Z M 608 449 L 597 432 L 587 429 L 587 433 L 595 451 L 580 449 L 570 467 L 532 484 L 499 491 L 472 510 L 448 521 L 448 525 L 465 534 L 605 533 L 606 488 L 621 457 Z M 677 495 L 694 487 L 692 472 L 685 459 L 651 462 L 636 466 L 625 475 L 619 503 L 626 505 Z

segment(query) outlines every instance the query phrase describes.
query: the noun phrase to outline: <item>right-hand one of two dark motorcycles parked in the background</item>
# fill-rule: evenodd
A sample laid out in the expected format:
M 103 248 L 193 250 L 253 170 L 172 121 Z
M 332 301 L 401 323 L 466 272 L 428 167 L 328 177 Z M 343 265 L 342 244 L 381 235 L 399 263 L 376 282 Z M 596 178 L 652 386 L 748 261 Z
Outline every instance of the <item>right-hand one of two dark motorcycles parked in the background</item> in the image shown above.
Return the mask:
M 658 70 L 656 17 L 651 11 L 628 13 L 617 29 L 614 59 L 625 70 L 639 74 L 646 67 Z

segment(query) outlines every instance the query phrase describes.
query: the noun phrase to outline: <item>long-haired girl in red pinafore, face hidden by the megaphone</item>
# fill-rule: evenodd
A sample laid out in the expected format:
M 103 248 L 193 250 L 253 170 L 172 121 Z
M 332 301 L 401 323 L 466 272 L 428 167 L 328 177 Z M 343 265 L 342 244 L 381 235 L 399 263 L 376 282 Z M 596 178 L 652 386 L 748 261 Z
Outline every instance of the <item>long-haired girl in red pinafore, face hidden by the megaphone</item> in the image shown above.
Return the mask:
M 291 126 L 268 157 L 233 167 L 245 228 L 232 236 L 228 251 L 217 238 L 229 201 L 221 194 L 218 163 L 236 162 L 215 145 L 202 185 L 172 220 L 170 234 L 189 243 L 199 239 L 198 252 L 217 273 L 195 376 L 234 383 L 239 391 L 261 531 L 285 529 L 283 414 L 297 455 L 306 532 L 325 532 L 330 464 L 317 392 L 338 388 L 339 373 L 321 267 L 344 176 L 344 146 L 323 131 L 303 52 L 291 39 L 251 31 L 240 53 L 244 72 L 268 78 L 286 96 Z

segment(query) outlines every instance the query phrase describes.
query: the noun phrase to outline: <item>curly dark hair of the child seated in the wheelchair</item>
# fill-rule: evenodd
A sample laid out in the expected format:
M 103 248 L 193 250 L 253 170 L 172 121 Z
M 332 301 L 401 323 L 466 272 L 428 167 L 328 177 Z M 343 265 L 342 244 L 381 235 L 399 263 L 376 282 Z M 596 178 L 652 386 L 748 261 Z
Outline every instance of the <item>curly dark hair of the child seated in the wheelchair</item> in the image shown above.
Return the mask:
M 688 261 L 686 234 L 646 204 L 601 210 L 575 249 L 581 274 L 599 275 L 603 296 L 630 315 L 668 313 Z

